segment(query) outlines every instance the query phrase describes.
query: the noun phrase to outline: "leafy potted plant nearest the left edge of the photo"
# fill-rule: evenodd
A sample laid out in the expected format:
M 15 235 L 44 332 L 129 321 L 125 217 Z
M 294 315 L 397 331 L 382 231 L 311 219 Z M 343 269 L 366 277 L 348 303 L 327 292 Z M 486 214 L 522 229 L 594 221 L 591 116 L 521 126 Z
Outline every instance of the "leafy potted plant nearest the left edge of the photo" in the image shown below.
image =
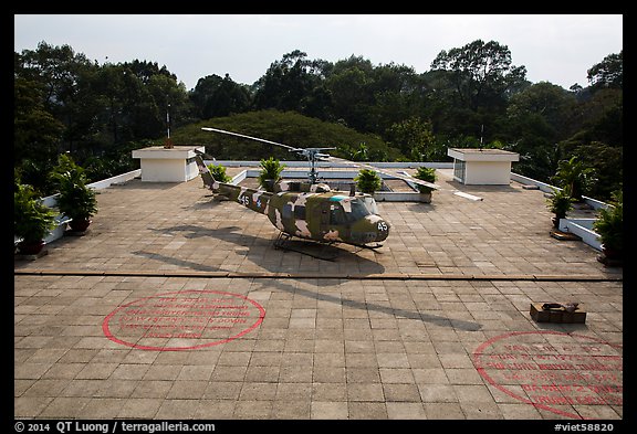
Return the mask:
M 55 211 L 42 204 L 30 184 L 15 183 L 13 191 L 13 234 L 21 239 L 18 253 L 36 255 L 44 239 L 55 229 Z

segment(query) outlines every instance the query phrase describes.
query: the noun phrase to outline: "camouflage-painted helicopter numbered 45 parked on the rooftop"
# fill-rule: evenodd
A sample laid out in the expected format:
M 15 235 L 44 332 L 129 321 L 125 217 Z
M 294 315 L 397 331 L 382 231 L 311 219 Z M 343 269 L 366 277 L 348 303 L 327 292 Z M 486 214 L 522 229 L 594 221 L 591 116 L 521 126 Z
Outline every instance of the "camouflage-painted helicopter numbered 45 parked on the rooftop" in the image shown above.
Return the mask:
M 346 163 L 359 168 L 372 169 L 380 173 L 383 170 L 364 163 L 331 157 L 326 150 L 335 148 L 294 148 L 258 137 L 246 136 L 238 133 L 217 128 L 203 127 L 206 131 L 215 131 L 276 145 L 307 158 L 310 161 L 309 182 L 280 181 L 272 187 L 273 192 L 239 187 L 231 183 L 219 182 L 203 162 L 201 152 L 195 157 L 203 184 L 229 200 L 243 207 L 268 215 L 270 222 L 280 231 L 274 242 L 276 248 L 294 250 L 300 253 L 306 251 L 292 247 L 288 242 L 292 237 L 314 241 L 324 245 L 344 243 L 362 248 L 378 248 L 389 235 L 390 224 L 378 215 L 378 208 L 374 197 L 356 192 L 353 188 L 349 193 L 333 191 L 326 183 L 317 182 L 316 161 L 332 161 Z M 440 190 L 440 187 L 421 181 L 409 176 L 388 173 L 391 177 L 405 179 L 409 182 Z M 312 256 L 314 254 L 307 253 Z M 324 257 L 318 254 L 320 258 Z

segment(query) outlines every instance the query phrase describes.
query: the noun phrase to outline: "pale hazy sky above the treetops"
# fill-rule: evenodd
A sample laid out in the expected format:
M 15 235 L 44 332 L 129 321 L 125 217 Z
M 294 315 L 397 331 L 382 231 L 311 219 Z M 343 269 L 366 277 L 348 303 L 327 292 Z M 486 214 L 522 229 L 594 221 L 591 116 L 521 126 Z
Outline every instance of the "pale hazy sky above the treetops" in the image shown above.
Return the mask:
M 252 84 L 284 54 L 351 55 L 416 73 L 476 40 L 509 47 L 532 83 L 586 87 L 587 71 L 623 50 L 622 14 L 14 14 L 14 51 L 70 45 L 98 64 L 157 62 L 188 91 L 229 74 Z

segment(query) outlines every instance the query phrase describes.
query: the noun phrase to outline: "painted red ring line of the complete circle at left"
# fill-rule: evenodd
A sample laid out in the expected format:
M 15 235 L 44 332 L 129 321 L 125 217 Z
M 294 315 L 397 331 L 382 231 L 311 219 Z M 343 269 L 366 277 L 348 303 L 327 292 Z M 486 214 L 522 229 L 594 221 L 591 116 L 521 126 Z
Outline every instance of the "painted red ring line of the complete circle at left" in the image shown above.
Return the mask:
M 218 340 L 213 340 L 213 341 L 208 341 L 206 343 L 200 343 L 200 345 L 194 345 L 194 346 L 184 346 L 184 347 L 166 347 L 166 346 L 149 346 L 149 345 L 139 345 L 136 342 L 129 342 L 126 341 L 125 339 L 121 339 L 117 338 L 112 331 L 111 331 L 111 327 L 109 327 L 109 322 L 111 320 L 121 311 L 123 311 L 124 309 L 134 306 L 134 305 L 138 305 L 138 304 L 144 304 L 150 299 L 160 299 L 161 297 L 167 297 L 167 296 L 176 296 L 176 295 L 189 295 L 189 294 L 215 294 L 215 295 L 220 295 L 220 296 L 224 296 L 224 297 L 233 297 L 233 298 L 240 298 L 242 300 L 248 301 L 249 304 L 251 304 L 254 308 L 257 308 L 259 310 L 259 315 L 255 318 L 254 322 L 250 324 L 247 328 L 242 329 L 241 331 L 229 336 L 229 337 L 224 337 L 223 339 L 218 339 Z M 231 298 L 230 298 L 231 299 Z M 143 297 L 139 299 L 136 299 L 134 301 L 130 301 L 126 305 L 119 306 L 118 308 L 116 308 L 115 310 L 113 310 L 111 314 L 108 314 L 106 316 L 106 318 L 104 318 L 104 321 L 102 322 L 102 330 L 104 332 L 104 335 L 106 336 L 106 338 L 111 339 L 112 341 L 126 346 L 126 347 L 132 347 L 132 348 L 137 348 L 140 350 L 152 350 L 152 351 L 182 351 L 182 350 L 195 350 L 195 349 L 200 349 L 200 348 L 206 348 L 206 347 L 212 347 L 216 345 L 220 345 L 220 343 L 227 343 L 230 342 L 231 340 L 234 340 L 237 338 L 240 338 L 247 334 L 249 334 L 250 331 L 254 330 L 257 327 L 259 327 L 259 325 L 263 321 L 263 318 L 265 317 L 265 309 L 263 308 L 263 306 L 261 306 L 260 304 L 258 304 L 257 301 L 242 296 L 240 294 L 233 294 L 233 293 L 227 293 L 227 292 L 220 292 L 220 290 L 180 290 L 180 292 L 173 292 L 173 293 L 164 293 L 164 294 L 158 294 L 158 295 L 154 295 L 154 296 L 149 296 L 149 297 Z M 210 320 L 210 318 L 209 318 Z

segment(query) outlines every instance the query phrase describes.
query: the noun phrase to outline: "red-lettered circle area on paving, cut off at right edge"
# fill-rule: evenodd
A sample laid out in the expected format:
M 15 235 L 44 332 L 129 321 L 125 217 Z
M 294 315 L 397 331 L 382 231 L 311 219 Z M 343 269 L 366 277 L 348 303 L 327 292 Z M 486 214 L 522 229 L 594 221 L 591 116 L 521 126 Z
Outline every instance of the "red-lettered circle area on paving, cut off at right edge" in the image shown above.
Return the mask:
M 473 352 L 491 385 L 536 409 L 584 419 L 577 405 L 623 405 L 623 346 L 552 330 L 495 336 Z

